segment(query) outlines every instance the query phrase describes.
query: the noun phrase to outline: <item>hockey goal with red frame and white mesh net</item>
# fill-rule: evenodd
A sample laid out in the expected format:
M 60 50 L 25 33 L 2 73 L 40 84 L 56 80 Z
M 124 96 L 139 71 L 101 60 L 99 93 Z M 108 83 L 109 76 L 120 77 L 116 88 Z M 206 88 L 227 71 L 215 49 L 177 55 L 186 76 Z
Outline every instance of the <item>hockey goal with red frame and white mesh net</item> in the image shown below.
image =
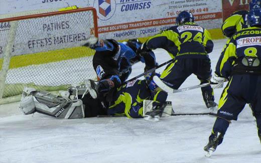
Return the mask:
M 94 79 L 94 51 L 82 47 L 98 37 L 94 8 L 0 19 L 0 100 L 37 90 L 63 90 Z

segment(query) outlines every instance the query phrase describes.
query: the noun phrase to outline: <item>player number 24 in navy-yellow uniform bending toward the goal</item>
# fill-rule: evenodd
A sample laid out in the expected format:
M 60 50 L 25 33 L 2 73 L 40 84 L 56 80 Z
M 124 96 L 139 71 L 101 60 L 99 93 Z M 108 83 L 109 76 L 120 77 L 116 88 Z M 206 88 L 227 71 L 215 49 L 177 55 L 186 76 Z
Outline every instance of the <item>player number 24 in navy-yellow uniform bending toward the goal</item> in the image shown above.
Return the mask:
M 153 37 L 144 45 L 143 51 L 150 51 L 163 48 L 168 51 L 175 61 L 169 64 L 161 74 L 161 79 L 165 84 L 178 89 L 181 84 L 191 74 L 195 74 L 201 84 L 209 83 L 211 78 L 211 64 L 208 53 L 213 50 L 213 42 L 209 32 L 194 23 L 191 13 L 181 12 L 176 23 L 178 26 L 171 27 Z M 146 53 L 143 53 L 146 56 Z M 146 62 L 148 66 L 148 62 Z M 153 68 L 155 65 L 149 65 Z M 207 108 L 213 108 L 217 104 L 214 102 L 213 89 L 210 86 L 202 87 L 202 95 Z M 153 110 L 147 112 L 147 120 L 158 120 L 161 117 L 167 99 L 167 92 L 156 89 L 153 103 Z M 153 118 L 153 119 L 152 119 Z

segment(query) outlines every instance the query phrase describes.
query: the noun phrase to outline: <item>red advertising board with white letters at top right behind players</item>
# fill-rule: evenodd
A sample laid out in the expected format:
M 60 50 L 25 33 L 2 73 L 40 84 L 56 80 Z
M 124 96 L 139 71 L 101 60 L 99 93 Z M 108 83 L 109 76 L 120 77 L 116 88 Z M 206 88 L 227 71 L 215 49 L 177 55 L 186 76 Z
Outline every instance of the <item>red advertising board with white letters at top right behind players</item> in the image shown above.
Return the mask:
M 251 0 L 222 0 L 223 20 L 239 10 L 249 10 Z

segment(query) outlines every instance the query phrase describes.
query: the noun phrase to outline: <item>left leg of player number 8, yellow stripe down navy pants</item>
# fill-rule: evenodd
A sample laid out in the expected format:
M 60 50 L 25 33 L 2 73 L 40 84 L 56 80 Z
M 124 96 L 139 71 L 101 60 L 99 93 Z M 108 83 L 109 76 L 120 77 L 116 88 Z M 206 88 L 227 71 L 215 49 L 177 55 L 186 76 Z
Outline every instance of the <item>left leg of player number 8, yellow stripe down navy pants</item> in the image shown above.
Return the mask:
M 217 145 L 223 141 L 223 136 L 229 126 L 230 120 L 237 120 L 238 114 L 244 108 L 246 102 L 242 101 L 242 97 L 248 94 L 245 90 L 238 89 L 241 84 L 238 78 L 233 77 L 224 88 L 218 104 L 218 117 L 209 136 L 209 142 L 204 147 L 204 150 L 208 152 L 215 151 Z

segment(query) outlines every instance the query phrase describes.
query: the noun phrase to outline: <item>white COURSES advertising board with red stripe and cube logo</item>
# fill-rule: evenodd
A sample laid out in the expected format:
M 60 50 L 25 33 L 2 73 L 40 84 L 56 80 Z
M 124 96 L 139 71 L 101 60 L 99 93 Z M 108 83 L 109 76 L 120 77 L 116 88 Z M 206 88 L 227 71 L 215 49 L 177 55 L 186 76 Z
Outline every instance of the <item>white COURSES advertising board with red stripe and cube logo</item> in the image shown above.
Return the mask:
M 148 37 L 175 25 L 177 15 L 186 10 L 207 29 L 220 28 L 220 0 L 94 0 L 101 38 L 124 40 Z

